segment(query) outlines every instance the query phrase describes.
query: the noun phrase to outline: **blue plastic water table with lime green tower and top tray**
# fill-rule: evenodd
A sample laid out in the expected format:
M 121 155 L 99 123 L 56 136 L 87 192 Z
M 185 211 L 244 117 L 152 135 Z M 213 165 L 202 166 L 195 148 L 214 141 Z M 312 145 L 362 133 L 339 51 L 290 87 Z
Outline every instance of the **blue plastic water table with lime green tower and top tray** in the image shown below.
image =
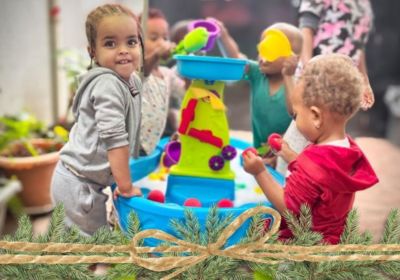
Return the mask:
M 192 80 L 181 105 L 179 140 L 162 139 L 151 155 L 131 160 L 132 180 L 141 187 L 143 197 L 114 201 L 123 229 L 131 211 L 143 230 L 161 229 L 176 235 L 170 221 L 184 219 L 187 207 L 204 229 L 212 205 L 221 207 L 220 215 L 233 217 L 260 203 L 272 206 L 253 176 L 243 170 L 240 155 L 250 144 L 229 136 L 224 82 L 240 80 L 246 60 L 195 55 L 174 58 L 180 75 Z M 283 185 L 284 177 L 267 168 Z M 154 191 L 162 193 L 161 200 L 148 199 Z M 248 226 L 249 222 L 244 223 L 227 245 L 238 242 Z M 150 246 L 158 242 L 145 240 Z

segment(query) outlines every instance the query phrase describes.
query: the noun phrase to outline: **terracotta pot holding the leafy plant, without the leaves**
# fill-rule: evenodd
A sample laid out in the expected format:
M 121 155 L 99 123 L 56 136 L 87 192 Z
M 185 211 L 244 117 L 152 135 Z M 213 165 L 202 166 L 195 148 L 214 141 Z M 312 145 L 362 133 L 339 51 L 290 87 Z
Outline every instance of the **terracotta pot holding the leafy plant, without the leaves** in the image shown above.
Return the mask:
M 35 148 L 45 150 L 50 147 L 59 150 L 62 147 L 62 144 L 49 139 L 33 139 L 31 143 Z M 58 151 L 35 157 L 0 156 L 0 168 L 6 176 L 15 175 L 22 183 L 19 196 L 28 214 L 45 213 L 53 209 L 50 183 L 58 158 Z

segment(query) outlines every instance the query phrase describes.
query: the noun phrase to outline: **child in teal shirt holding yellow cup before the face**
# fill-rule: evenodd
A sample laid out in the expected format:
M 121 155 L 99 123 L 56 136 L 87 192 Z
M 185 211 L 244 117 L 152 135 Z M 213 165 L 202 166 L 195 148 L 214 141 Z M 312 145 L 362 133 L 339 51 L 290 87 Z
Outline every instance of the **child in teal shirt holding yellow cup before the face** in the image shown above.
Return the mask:
M 221 29 L 221 42 L 227 54 L 234 58 L 243 58 L 236 42 L 229 35 L 224 25 L 216 21 Z M 270 29 L 282 31 L 288 38 L 294 55 L 299 55 L 302 46 L 300 30 L 287 23 L 276 23 L 268 27 L 261 35 Z M 292 58 L 291 58 L 292 59 Z M 250 83 L 250 114 L 253 132 L 253 145 L 260 148 L 271 133 L 283 134 L 288 128 L 291 117 L 288 113 L 286 96 L 286 81 L 292 77 L 284 75 L 283 68 L 287 58 L 280 57 L 272 62 L 259 58 L 249 60 L 244 79 Z M 286 85 L 287 86 L 287 85 Z M 289 105 L 290 106 L 290 105 Z

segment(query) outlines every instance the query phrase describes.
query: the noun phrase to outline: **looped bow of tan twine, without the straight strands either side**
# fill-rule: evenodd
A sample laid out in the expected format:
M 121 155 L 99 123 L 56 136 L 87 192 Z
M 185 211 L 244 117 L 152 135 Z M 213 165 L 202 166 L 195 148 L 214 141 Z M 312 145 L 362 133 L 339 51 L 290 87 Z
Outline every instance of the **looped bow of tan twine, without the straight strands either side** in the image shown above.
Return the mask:
M 270 214 L 274 218 L 274 222 L 270 231 L 268 231 L 262 238 L 257 242 L 250 244 L 238 244 L 232 245 L 227 248 L 223 248 L 229 237 L 236 232 L 236 230 L 250 217 L 257 214 Z M 274 233 L 279 229 L 281 222 L 281 216 L 277 211 L 272 208 L 265 206 L 258 206 L 251 208 L 240 214 L 230 225 L 228 225 L 215 243 L 202 246 L 199 244 L 193 244 L 187 241 L 180 240 L 170 234 L 167 234 L 160 230 L 144 230 L 136 234 L 132 241 L 132 259 L 133 261 L 147 269 L 153 271 L 167 271 L 174 268 L 179 268 L 173 273 L 167 275 L 162 279 L 171 279 L 178 274 L 184 272 L 189 267 L 194 266 L 210 256 L 223 256 L 234 259 L 245 259 L 249 261 L 255 261 L 256 258 L 253 256 L 246 256 L 249 252 L 254 249 L 259 249 Z M 140 240 L 144 238 L 156 238 L 162 241 L 170 242 L 174 245 L 158 246 L 158 247 L 136 247 Z M 143 253 L 168 253 L 177 252 L 185 253 L 182 256 L 173 257 L 143 257 L 139 255 Z M 258 260 L 260 262 L 260 260 Z

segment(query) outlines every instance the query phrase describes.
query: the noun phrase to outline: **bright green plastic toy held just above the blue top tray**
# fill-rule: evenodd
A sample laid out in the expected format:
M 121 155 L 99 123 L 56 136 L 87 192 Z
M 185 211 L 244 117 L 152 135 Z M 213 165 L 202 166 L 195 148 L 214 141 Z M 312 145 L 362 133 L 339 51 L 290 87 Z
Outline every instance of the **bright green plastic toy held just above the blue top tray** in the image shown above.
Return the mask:
M 191 29 L 186 36 L 178 43 L 173 54 L 188 54 L 197 52 L 204 48 L 209 41 L 209 32 L 204 27 Z

